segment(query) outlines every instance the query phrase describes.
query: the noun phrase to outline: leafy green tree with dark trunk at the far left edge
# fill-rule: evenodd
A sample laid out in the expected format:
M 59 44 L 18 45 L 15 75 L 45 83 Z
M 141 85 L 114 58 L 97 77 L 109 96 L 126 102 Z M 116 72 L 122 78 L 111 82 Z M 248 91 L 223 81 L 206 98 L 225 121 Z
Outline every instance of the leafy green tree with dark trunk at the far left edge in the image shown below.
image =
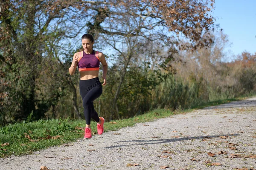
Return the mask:
M 64 39 L 79 34 L 85 24 L 77 23 L 76 20 L 83 20 L 81 13 L 87 8 L 86 4 L 77 0 L 6 0 L 1 3 L 2 119 L 23 119 L 32 111 L 39 119 L 52 106 L 52 99 L 45 101 L 44 98 L 36 98 L 37 91 L 41 90 L 36 83 L 41 74 L 40 68 L 45 59 L 59 57 L 62 49 L 68 47 L 63 44 Z M 54 62 L 61 64 L 59 60 Z M 58 78 L 56 81 L 61 79 Z M 68 78 L 67 82 L 73 86 Z M 52 92 L 54 96 L 59 95 L 58 91 Z M 6 116 L 9 118 L 4 118 Z

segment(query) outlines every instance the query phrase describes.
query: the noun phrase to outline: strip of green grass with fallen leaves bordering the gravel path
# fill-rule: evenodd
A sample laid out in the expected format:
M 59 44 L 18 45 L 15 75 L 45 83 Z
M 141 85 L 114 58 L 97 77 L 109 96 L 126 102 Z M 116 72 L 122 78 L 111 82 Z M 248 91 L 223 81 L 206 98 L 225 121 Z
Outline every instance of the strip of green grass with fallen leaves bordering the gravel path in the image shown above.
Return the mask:
M 232 101 L 241 100 L 226 99 L 209 102 L 204 105 L 197 106 L 192 109 L 204 108 L 211 105 L 220 105 Z M 183 111 L 169 111 L 164 109 L 156 109 L 148 113 L 135 116 L 129 119 L 115 120 L 116 123 L 106 122 L 105 132 L 115 131 L 122 127 L 133 126 L 140 122 L 150 122 L 154 119 L 160 119 L 171 116 L 173 114 L 192 111 L 187 109 Z M 97 133 L 96 122 L 91 122 L 92 132 Z M 85 127 L 85 120 L 70 119 L 52 119 L 38 120 L 36 122 L 25 122 L 10 124 L 0 128 L 0 157 L 10 155 L 30 154 L 33 151 L 41 150 L 49 146 L 60 145 L 68 142 L 76 141 L 83 137 L 83 130 L 76 127 Z M 26 135 L 25 135 L 26 133 Z M 29 135 L 29 137 L 28 137 Z M 93 134 L 94 135 L 94 134 Z M 27 136 L 27 137 L 26 137 Z M 51 139 L 52 136 L 61 136 L 58 139 Z M 37 140 L 31 142 L 30 140 Z M 8 145 L 1 146 L 2 144 Z

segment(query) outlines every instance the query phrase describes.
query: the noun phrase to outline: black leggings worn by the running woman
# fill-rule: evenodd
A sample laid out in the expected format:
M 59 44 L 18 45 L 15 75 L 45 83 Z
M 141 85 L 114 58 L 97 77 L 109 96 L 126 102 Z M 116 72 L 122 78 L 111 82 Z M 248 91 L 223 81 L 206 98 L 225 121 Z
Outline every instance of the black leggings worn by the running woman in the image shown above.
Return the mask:
M 88 80 L 80 79 L 79 88 L 83 100 L 86 124 L 90 125 L 91 118 L 96 122 L 99 122 L 99 115 L 93 107 L 93 100 L 97 99 L 102 94 L 102 85 L 99 82 L 99 77 Z

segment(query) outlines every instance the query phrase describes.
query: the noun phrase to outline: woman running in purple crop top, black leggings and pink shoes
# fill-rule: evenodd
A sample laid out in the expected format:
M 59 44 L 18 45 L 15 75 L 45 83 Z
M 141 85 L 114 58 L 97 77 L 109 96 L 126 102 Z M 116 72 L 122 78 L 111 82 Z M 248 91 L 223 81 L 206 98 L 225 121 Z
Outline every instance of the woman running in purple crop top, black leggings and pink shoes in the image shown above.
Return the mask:
M 91 34 L 84 34 L 81 37 L 81 41 L 84 50 L 74 54 L 72 64 L 68 70 L 70 75 L 73 75 L 76 71 L 76 65 L 78 65 L 80 74 L 79 89 L 86 119 L 84 139 L 90 139 L 92 137 L 91 118 L 97 122 L 98 134 L 101 135 L 104 132 L 105 119 L 99 117 L 93 107 L 93 101 L 102 94 L 102 85 L 107 83 L 108 64 L 102 52 L 93 50 L 94 39 Z M 103 70 L 102 78 L 104 83 L 102 85 L 99 82 L 99 62 L 102 63 Z

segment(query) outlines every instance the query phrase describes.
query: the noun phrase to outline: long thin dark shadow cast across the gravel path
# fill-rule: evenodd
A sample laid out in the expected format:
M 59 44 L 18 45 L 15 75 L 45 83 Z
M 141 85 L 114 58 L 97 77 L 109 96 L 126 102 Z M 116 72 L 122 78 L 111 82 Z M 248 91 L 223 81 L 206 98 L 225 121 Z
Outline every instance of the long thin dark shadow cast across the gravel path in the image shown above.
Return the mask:
M 195 136 L 195 137 L 184 137 L 184 138 L 173 138 L 173 139 L 158 139 L 158 140 L 130 140 L 130 141 L 118 141 L 115 143 L 120 142 L 139 142 L 138 144 L 121 144 L 121 145 L 113 145 L 110 147 L 104 147 L 105 149 L 114 148 L 114 147 L 124 147 L 124 146 L 136 146 L 136 145 L 145 145 L 145 144 L 163 144 L 163 143 L 170 143 L 170 142 L 178 142 L 178 141 L 185 141 L 185 140 L 196 140 L 196 139 L 212 139 L 212 138 L 219 138 L 221 136 L 240 136 L 239 134 L 226 134 L 226 135 L 213 135 L 213 136 Z

